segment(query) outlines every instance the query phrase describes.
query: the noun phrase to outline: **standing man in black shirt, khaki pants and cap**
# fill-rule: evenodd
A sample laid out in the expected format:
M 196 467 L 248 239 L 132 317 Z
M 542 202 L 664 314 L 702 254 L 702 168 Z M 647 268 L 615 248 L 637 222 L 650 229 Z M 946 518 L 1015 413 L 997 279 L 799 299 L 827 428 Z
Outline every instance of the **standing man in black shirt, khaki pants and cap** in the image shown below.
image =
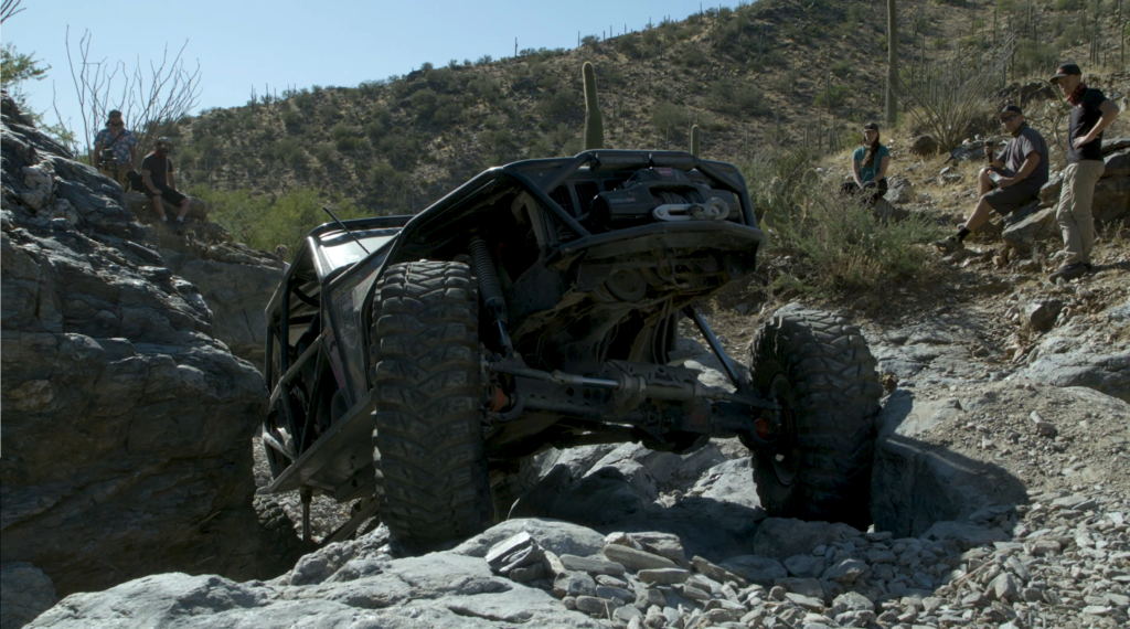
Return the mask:
M 1067 261 L 1051 274 L 1071 280 L 1090 271 L 1090 250 L 1095 246 L 1095 220 L 1090 203 L 1095 183 L 1103 176 L 1103 130 L 1119 115 L 1119 107 L 1097 89 L 1083 82 L 1083 70 L 1075 63 L 1055 69 L 1051 82 L 1058 85 L 1071 104 L 1071 124 L 1068 132 L 1067 168 L 1063 169 L 1063 189 L 1060 192 L 1055 220 L 1063 233 Z

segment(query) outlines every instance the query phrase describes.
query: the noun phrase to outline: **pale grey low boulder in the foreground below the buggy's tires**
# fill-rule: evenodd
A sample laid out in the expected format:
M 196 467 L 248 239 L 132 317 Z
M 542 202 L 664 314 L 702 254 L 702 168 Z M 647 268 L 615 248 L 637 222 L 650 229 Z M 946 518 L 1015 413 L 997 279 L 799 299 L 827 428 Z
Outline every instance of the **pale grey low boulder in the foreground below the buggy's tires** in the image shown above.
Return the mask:
M 319 562 L 327 569 L 312 582 L 296 579 L 297 567 L 270 583 L 156 575 L 72 594 L 28 627 L 602 627 L 546 589 L 492 574 L 480 558 L 436 552 L 391 559 L 365 545 L 362 539 L 320 551 L 332 560 Z

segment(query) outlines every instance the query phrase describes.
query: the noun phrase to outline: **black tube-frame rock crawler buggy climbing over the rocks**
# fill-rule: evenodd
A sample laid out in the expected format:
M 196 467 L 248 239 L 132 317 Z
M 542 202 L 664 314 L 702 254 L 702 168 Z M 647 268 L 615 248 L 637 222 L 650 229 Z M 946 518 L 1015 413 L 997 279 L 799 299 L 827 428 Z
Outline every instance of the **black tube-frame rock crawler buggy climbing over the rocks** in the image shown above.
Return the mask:
M 331 539 L 379 513 L 428 549 L 505 517 L 498 481 L 547 447 L 738 436 L 771 514 L 866 524 L 881 387 L 859 330 L 786 309 L 744 377 L 696 306 L 765 242 L 738 169 L 676 151 L 519 161 L 314 229 L 267 309 L 267 491 L 363 499 Z M 736 392 L 672 360 L 680 317 Z

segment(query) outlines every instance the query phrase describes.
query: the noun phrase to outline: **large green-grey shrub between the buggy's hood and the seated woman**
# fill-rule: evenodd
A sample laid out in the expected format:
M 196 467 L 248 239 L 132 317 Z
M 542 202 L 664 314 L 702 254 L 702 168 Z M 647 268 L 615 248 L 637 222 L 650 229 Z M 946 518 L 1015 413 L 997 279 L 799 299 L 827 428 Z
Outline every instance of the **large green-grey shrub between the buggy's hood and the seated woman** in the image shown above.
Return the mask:
M 939 227 L 919 217 L 884 220 L 841 195 L 814 166 L 814 152 L 791 149 L 744 167 L 774 257 L 791 260 L 774 269 L 774 286 L 843 297 L 890 290 L 930 272 L 922 245 L 939 237 Z

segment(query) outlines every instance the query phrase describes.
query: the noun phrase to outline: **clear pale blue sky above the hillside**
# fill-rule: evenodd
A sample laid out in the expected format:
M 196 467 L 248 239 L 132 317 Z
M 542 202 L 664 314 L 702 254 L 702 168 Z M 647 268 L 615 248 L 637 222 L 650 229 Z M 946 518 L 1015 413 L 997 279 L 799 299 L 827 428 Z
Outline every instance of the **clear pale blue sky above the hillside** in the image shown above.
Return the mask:
M 734 7 L 736 1 L 722 2 Z M 199 60 L 200 107 L 246 104 L 251 87 L 281 93 L 287 86 L 356 86 L 365 80 L 405 75 L 428 61 L 495 59 L 519 49 L 574 47 L 581 35 L 640 30 L 649 18 L 681 20 L 699 0 L 520 2 L 516 0 L 360 1 L 272 0 L 245 2 L 96 2 L 24 0 L 24 11 L 3 25 L 0 38 L 50 64 L 47 78 L 25 86 L 36 111 L 51 107 L 52 82 L 64 119 L 80 131 L 78 104 L 67 62 L 86 29 L 93 35 L 90 59 L 144 67 L 159 62 L 189 41 L 185 56 Z M 714 7 L 719 3 L 714 2 Z M 151 17 L 139 17 L 147 14 Z M 77 60 L 77 56 L 76 56 Z M 53 113 L 44 116 L 55 122 Z M 129 122 L 129 121 L 128 121 Z

